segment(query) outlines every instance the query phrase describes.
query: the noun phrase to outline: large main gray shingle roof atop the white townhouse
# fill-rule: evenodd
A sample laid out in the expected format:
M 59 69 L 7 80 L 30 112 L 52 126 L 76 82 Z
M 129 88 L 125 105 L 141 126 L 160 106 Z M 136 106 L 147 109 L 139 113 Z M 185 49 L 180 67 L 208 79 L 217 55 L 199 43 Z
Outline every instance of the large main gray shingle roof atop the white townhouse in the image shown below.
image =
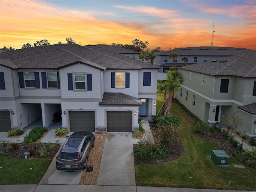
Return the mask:
M 157 69 L 151 64 L 100 47 L 86 48 L 77 44 L 55 44 L 2 52 L 0 64 L 13 68 L 12 64 L 2 59 L 9 59 L 18 68 L 57 69 L 75 62 L 88 61 L 92 66 L 106 69 Z

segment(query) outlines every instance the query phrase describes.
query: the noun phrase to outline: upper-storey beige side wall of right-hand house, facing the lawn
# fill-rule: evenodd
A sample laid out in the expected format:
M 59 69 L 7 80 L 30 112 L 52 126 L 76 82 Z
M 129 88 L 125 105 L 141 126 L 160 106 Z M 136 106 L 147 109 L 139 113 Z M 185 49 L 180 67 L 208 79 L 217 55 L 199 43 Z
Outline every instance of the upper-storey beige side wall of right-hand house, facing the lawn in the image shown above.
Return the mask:
M 212 98 L 212 92 L 214 87 L 214 76 L 204 74 L 204 84 L 202 84 L 201 73 L 192 72 L 190 80 L 190 71 L 180 69 L 180 73 L 184 78 L 184 86 L 200 93 L 204 94 L 208 98 Z

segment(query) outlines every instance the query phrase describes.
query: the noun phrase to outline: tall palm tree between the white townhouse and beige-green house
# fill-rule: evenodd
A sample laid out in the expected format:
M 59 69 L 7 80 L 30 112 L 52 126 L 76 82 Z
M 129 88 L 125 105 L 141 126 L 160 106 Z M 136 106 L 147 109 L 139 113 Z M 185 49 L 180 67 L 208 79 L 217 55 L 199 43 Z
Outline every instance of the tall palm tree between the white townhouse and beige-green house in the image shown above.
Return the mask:
M 170 114 L 172 106 L 172 98 L 178 92 L 179 88 L 184 84 L 182 75 L 177 70 L 168 70 L 167 73 L 167 91 L 169 93 L 167 98 L 166 114 Z

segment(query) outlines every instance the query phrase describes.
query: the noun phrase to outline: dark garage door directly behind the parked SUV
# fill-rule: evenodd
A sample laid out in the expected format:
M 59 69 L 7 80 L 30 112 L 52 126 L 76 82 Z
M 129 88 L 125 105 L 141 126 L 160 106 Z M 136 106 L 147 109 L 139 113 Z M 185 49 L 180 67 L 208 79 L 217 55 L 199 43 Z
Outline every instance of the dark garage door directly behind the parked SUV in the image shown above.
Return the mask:
M 95 131 L 94 111 L 70 111 L 70 132 Z

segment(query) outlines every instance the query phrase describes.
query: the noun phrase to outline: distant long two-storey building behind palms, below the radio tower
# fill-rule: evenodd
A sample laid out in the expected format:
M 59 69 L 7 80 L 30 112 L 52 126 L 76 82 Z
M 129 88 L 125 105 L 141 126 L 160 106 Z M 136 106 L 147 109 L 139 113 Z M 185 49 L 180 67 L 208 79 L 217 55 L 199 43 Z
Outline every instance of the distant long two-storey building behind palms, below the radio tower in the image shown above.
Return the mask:
M 169 70 L 172 66 L 173 59 L 169 59 L 169 55 L 172 53 L 178 53 L 180 56 L 175 58 L 174 66 L 180 67 L 185 66 L 182 61 L 183 56 L 188 56 L 187 65 L 202 63 L 212 60 L 220 60 L 227 56 L 240 55 L 243 53 L 255 53 L 255 50 L 245 48 L 233 48 L 233 47 L 187 47 L 187 48 L 176 48 L 167 52 L 157 52 L 156 58 L 154 59 L 154 65 L 160 66 L 159 72 Z

